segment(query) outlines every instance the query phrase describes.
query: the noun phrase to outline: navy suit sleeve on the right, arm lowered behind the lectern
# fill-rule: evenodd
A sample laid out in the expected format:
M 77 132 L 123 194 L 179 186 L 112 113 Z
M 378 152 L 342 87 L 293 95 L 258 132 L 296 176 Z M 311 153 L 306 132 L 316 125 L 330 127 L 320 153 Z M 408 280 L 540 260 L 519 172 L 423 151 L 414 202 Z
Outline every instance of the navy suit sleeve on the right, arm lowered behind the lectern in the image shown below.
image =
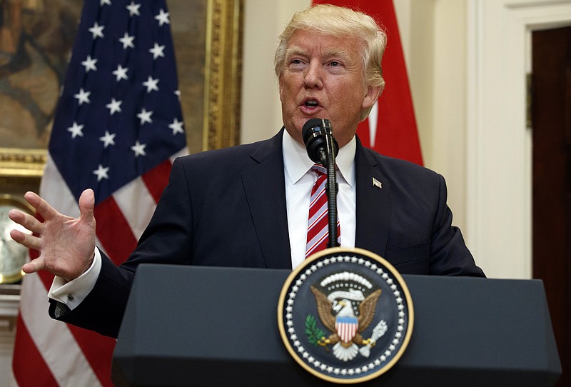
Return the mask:
M 438 208 L 430 238 L 430 274 L 483 277 L 484 273 L 476 266 L 460 229 L 452 225 L 452 211 L 446 204 L 446 183 L 443 176 L 438 177 Z

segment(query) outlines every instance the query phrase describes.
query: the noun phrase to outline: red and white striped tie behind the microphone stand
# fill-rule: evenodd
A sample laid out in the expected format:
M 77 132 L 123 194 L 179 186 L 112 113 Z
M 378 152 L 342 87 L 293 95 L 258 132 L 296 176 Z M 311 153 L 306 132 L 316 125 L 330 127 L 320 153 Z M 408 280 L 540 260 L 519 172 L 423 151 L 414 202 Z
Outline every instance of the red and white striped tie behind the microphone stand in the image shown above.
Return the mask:
M 313 165 L 312 171 L 317 174 L 317 181 L 311 189 L 311 201 L 309 204 L 308 216 L 308 241 L 305 246 L 305 258 L 317 251 L 327 248 L 329 241 L 329 216 L 327 194 L 327 171 L 323 166 Z M 341 230 L 339 220 L 337 221 L 337 242 L 340 243 Z

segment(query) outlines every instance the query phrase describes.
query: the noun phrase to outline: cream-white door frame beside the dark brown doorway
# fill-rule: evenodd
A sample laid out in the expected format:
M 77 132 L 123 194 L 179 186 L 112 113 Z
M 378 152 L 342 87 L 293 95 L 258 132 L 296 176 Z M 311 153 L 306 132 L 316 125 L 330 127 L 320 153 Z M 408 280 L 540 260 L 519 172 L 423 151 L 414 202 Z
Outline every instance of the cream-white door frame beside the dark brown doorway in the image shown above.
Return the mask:
M 531 278 L 531 32 L 571 26 L 571 1 L 468 0 L 467 12 L 467 242 L 487 276 Z

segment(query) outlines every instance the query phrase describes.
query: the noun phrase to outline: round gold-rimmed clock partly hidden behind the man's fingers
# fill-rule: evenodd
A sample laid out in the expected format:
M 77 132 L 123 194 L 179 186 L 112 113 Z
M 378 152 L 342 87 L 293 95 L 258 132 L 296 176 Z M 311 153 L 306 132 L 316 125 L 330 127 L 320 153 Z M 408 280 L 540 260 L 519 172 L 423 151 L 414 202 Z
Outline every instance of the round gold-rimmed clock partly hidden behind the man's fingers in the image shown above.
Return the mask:
M 14 208 L 31 215 L 34 214 L 34 208 L 29 206 L 24 199 L 14 195 L 0 195 L 0 283 L 20 281 L 23 276 L 21 267 L 26 263 L 28 255 L 28 248 L 17 243 L 10 236 L 10 231 L 14 229 L 30 233 L 8 217 L 9 211 Z

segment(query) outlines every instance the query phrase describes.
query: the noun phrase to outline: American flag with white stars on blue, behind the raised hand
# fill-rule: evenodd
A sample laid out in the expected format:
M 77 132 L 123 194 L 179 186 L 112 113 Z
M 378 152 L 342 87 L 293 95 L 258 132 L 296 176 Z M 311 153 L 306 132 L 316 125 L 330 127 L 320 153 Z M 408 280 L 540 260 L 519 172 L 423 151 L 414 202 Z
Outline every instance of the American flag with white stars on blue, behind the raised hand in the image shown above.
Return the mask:
M 186 154 L 170 23 L 164 0 L 85 0 L 56 107 L 40 194 L 79 216 L 81 191 L 94 189 L 97 245 L 116 264 Z M 52 278 L 24 278 L 13 384 L 112 386 L 115 341 L 51 320 Z

